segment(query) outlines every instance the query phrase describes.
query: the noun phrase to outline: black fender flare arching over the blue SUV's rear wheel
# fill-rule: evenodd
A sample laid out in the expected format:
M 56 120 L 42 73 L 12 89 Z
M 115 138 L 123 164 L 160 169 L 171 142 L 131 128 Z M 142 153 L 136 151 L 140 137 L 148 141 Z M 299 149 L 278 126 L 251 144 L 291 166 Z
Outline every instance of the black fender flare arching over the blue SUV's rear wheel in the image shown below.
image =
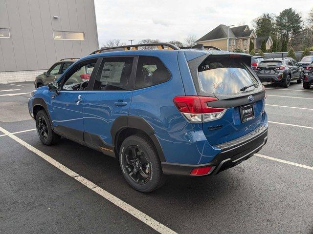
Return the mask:
M 156 133 L 154 128 L 145 120 L 143 117 L 138 116 L 120 116 L 117 117 L 111 128 L 111 136 L 112 139 L 115 141 L 118 134 L 125 128 L 134 128 L 143 131 L 146 133 L 156 147 L 157 154 L 160 158 L 161 162 L 166 162 L 165 156 L 163 154 L 162 147 L 160 142 L 156 137 Z M 115 144 L 114 144 L 115 145 Z

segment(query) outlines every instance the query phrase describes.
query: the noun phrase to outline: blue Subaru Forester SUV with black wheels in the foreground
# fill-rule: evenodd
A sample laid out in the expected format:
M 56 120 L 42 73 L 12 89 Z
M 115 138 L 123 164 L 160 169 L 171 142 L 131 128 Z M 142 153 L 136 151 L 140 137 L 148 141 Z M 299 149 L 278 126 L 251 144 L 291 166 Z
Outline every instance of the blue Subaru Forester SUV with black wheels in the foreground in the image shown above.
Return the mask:
M 164 175 L 218 174 L 266 144 L 266 93 L 251 56 L 155 45 L 96 51 L 33 91 L 41 141 L 62 136 L 116 157 L 140 192 Z M 77 83 L 86 69 L 89 81 Z

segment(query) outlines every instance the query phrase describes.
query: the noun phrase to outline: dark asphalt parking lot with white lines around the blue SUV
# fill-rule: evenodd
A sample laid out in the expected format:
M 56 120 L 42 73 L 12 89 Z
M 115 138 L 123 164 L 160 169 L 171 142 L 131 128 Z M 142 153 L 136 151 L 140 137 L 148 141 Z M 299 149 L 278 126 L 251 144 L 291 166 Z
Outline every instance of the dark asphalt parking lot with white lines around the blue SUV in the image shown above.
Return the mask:
M 43 145 L 28 114 L 33 89 L 0 84 L 1 234 L 313 233 L 312 88 L 267 85 L 258 155 L 217 176 L 169 176 L 150 194 L 112 157 L 67 139 Z

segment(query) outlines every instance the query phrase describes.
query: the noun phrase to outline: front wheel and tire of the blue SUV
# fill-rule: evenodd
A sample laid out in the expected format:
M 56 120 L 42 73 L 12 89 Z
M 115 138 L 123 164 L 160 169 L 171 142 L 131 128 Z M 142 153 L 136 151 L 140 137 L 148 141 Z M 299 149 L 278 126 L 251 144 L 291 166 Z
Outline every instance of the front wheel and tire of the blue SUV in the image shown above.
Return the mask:
M 36 115 L 37 134 L 44 145 L 53 145 L 60 140 L 60 136 L 53 132 L 50 119 L 44 110 L 40 110 Z

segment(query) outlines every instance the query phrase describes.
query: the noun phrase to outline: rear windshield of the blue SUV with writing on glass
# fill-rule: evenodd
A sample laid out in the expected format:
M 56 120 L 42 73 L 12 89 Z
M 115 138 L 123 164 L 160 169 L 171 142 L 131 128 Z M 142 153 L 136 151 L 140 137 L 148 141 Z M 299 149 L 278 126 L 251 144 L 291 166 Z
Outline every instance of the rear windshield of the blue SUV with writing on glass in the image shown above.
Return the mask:
M 212 57 L 212 58 L 210 58 Z M 199 86 L 204 93 L 235 95 L 240 89 L 254 90 L 258 81 L 239 58 L 209 56 L 198 67 Z

